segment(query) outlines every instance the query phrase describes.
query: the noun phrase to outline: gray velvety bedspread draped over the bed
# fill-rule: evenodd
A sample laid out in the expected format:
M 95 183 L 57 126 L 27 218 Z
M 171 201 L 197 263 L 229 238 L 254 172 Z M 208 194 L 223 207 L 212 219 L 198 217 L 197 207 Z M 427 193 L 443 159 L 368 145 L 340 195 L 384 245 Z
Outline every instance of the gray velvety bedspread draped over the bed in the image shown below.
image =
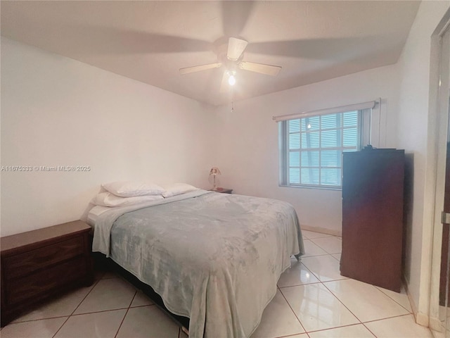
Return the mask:
M 304 253 L 290 204 L 205 190 L 101 214 L 93 251 L 190 318 L 191 338 L 250 337 L 290 256 Z

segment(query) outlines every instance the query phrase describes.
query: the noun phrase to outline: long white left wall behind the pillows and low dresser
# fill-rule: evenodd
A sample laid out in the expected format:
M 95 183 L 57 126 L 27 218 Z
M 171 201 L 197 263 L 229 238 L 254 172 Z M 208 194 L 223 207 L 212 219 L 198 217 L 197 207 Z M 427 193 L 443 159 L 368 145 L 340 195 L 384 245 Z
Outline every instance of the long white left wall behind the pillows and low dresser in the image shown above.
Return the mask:
M 100 184 L 207 187 L 214 111 L 148 84 L 1 38 L 1 236 L 79 219 Z

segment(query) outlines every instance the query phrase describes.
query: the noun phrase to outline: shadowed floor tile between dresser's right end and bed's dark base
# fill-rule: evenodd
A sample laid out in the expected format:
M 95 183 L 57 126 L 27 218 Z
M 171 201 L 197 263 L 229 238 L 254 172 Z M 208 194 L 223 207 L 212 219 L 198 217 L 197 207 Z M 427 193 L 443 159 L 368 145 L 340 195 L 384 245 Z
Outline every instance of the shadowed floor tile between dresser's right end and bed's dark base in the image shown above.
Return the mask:
M 75 314 L 128 308 L 136 289 L 121 278 L 99 280 Z

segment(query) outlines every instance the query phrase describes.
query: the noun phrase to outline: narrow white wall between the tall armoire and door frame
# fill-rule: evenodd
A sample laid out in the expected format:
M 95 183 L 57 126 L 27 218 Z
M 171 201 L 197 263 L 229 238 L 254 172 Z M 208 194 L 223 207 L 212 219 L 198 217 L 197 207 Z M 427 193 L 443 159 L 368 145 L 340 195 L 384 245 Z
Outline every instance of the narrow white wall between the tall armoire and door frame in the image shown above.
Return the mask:
M 427 325 L 430 294 L 430 249 L 434 209 L 435 143 L 429 128 L 431 36 L 449 1 L 422 1 L 399 59 L 399 114 L 397 144 L 406 150 L 411 170 L 411 211 L 407 215 L 405 276 L 418 311 Z M 436 65 L 434 65 L 436 66 Z M 430 147 L 431 145 L 431 147 Z

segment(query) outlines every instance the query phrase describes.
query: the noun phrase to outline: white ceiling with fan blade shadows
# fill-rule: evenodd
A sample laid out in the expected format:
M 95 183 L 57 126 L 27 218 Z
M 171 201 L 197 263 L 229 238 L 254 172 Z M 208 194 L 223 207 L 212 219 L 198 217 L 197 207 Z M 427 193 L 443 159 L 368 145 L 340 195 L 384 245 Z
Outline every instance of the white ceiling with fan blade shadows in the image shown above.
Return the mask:
M 396 63 L 419 1 L 1 1 L 1 35 L 208 104 L 228 103 Z M 243 60 L 280 65 L 276 77 L 238 70 L 219 92 L 229 37 Z M 51 71 L 51 70 L 49 70 Z

